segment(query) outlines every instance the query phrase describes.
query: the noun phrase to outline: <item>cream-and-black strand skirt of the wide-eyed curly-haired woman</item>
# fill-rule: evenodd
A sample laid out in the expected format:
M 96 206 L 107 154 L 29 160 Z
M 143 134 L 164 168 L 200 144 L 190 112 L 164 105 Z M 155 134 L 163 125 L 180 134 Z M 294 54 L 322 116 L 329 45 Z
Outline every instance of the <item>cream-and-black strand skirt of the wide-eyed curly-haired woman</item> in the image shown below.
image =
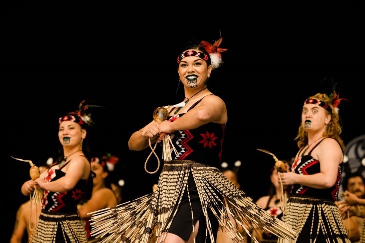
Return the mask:
M 348 242 L 337 205 L 329 200 L 291 196 L 287 201 L 282 220 L 299 233 L 297 240 L 279 239 L 279 243 L 292 242 Z M 306 225 L 304 230 L 304 225 Z

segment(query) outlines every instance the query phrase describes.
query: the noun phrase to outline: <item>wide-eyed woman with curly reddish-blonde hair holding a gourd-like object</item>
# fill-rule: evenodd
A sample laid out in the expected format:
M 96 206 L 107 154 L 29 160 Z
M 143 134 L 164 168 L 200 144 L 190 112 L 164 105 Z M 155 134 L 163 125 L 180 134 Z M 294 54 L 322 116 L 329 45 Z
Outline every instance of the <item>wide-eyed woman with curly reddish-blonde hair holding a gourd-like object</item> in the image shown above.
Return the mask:
M 299 233 L 295 242 L 350 242 L 335 204 L 344 150 L 341 100 L 334 88 L 329 96 L 317 93 L 305 100 L 295 138 L 299 151 L 291 172 L 279 173 L 289 198 L 282 220 Z

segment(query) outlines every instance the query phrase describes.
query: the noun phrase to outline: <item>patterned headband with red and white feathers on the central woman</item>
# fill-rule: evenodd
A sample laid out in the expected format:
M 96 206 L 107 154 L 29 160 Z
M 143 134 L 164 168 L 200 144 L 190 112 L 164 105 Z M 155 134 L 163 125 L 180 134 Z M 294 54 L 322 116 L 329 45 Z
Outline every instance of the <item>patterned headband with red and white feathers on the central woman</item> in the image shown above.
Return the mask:
M 208 52 L 209 56 L 207 56 L 205 53 L 202 53 L 200 51 L 195 50 L 188 50 L 183 53 L 181 53 L 177 57 L 177 63 L 180 63 L 180 61 L 188 56 L 196 56 L 200 57 L 201 59 L 205 60 L 208 64 L 211 64 L 213 66 L 213 69 L 216 69 L 220 66 L 220 64 L 223 63 L 222 61 L 222 54 L 221 52 L 224 52 L 228 49 L 222 49 L 219 48 L 219 45 L 222 43 L 223 37 L 215 41 L 213 44 L 210 44 L 208 41 L 201 41 L 199 47 L 202 47 Z

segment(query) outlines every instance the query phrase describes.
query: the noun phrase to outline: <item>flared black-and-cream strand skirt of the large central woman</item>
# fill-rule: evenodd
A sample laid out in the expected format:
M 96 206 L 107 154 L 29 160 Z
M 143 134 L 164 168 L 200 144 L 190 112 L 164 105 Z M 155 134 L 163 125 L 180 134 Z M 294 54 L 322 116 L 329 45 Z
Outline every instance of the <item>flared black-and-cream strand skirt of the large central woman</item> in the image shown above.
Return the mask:
M 219 169 L 190 160 L 165 162 L 155 192 L 112 208 L 90 213 L 91 235 L 103 238 L 102 242 L 105 243 L 144 243 L 149 242 L 155 229 L 157 242 L 163 242 L 166 236 L 163 232 L 168 232 L 181 198 L 188 189 L 190 173 L 193 175 L 206 219 L 206 232 L 203 235 L 207 241 L 215 242 L 208 210 L 215 215 L 214 220 L 218 220 L 221 229 L 230 235 L 233 242 L 240 242 L 244 238 L 237 230 L 238 225 L 242 226 L 249 236 L 251 234 L 245 225 L 256 230 L 267 230 L 284 239 L 294 240 L 298 236 L 291 227 L 255 204 Z M 233 217 L 233 223 L 229 215 Z M 193 220 L 191 232 L 196 235 Z M 251 237 L 258 242 L 253 236 Z

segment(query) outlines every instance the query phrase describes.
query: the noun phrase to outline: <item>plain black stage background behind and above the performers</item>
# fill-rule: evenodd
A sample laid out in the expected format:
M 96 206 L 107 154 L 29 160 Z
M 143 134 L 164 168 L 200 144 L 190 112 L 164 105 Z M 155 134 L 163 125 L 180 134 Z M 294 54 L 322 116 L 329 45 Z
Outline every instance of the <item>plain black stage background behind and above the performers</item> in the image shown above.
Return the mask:
M 112 178 L 125 180 L 124 201 L 152 191 L 158 175 L 144 171 L 150 149 L 129 151 L 127 142 L 156 107 L 183 100 L 182 89 L 176 94 L 176 58 L 187 42 L 223 36 L 221 47 L 228 51 L 209 85 L 228 107 L 223 161 L 242 161 L 241 188 L 255 200 L 266 194 L 274 164 L 256 149 L 279 159 L 296 154 L 303 101 L 331 92 L 323 78 L 333 78 L 337 93 L 349 100 L 339 106 L 345 143 L 365 134 L 361 6 L 223 5 L 214 8 L 217 16 L 202 6 L 182 8 L 172 13 L 111 2 L 5 3 L 5 238 L 18 206 L 29 199 L 20 192 L 29 164 L 10 156 L 38 166 L 55 157 L 58 118 L 84 99 L 105 107 L 90 110 L 95 125 L 88 136 L 94 155 L 120 158 Z M 154 170 L 153 156 L 149 164 Z

